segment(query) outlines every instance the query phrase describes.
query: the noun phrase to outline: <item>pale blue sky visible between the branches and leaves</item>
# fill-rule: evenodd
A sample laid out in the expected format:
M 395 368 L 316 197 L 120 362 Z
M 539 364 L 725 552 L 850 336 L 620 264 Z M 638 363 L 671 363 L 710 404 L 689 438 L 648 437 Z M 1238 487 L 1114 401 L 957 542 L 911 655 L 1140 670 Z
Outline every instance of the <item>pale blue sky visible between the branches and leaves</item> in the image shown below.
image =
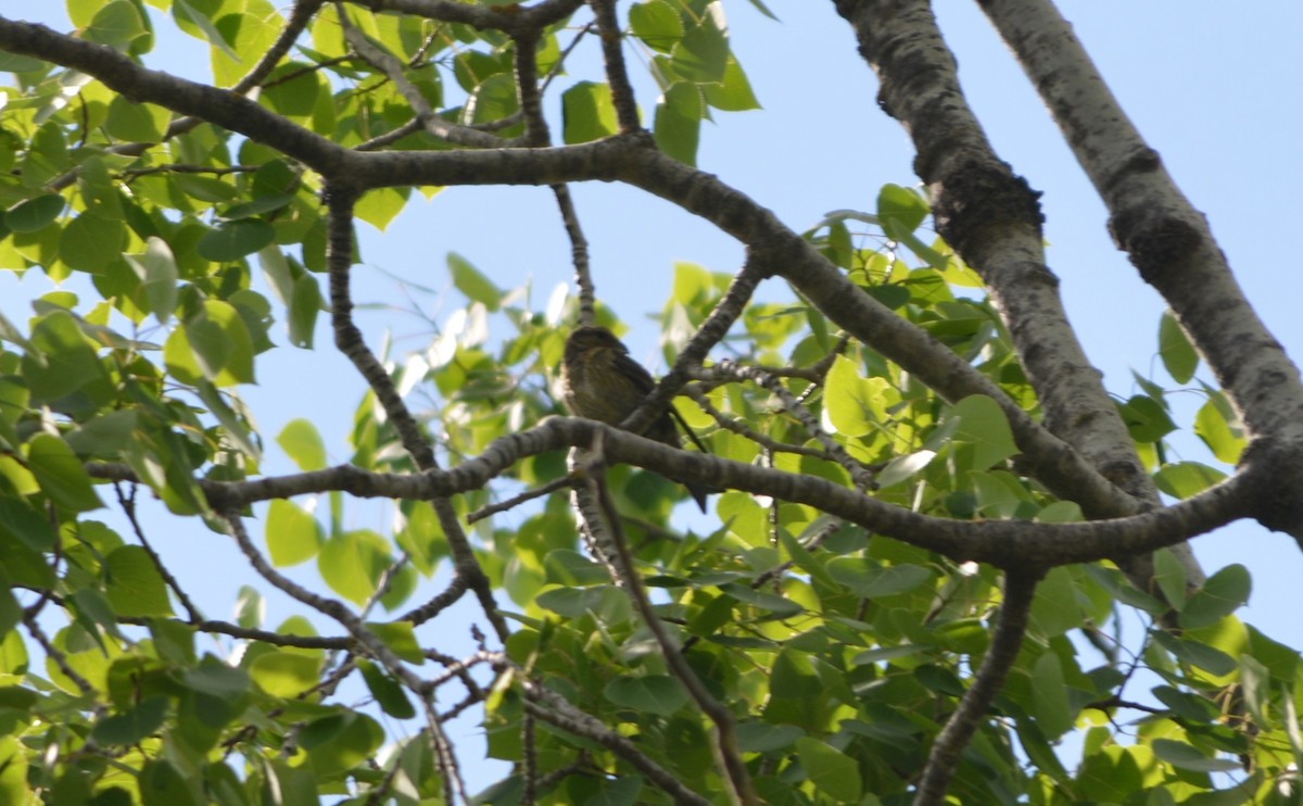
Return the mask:
M 718 113 L 715 124 L 702 130 L 698 164 L 771 207 L 797 231 L 830 210 L 872 210 L 885 183 L 916 184 L 907 137 L 878 111 L 877 83 L 833 4 L 767 3 L 782 22 L 762 17 L 741 0 L 727 3 L 734 51 L 765 108 Z M 1109 390 L 1130 396 L 1132 369 L 1170 385 L 1157 361 L 1162 305 L 1113 246 L 1102 205 L 1028 81 L 976 3 L 938 0 L 936 7 L 958 53 L 969 102 L 997 151 L 1045 193 L 1050 266 L 1062 279 L 1072 322 Z M 1303 4 L 1072 0 L 1059 8 L 1149 145 L 1208 215 L 1259 314 L 1287 351 L 1303 351 L 1303 317 L 1298 314 L 1303 282 L 1289 236 L 1303 218 L 1298 190 L 1303 97 L 1294 74 Z M 0 13 L 66 30 L 56 3 L 0 0 Z M 162 39 L 146 61 L 203 77 L 206 48 L 184 37 Z M 636 59 L 631 67 L 638 69 Z M 645 73 L 636 80 L 640 102 L 650 110 L 653 85 Z M 628 188 L 594 183 L 575 188 L 575 196 L 599 292 L 633 326 L 629 343 L 636 356 L 655 366 L 657 330 L 644 314 L 658 312 L 668 296 L 672 263 L 731 271 L 740 263 L 741 249 L 706 223 Z M 360 228 L 365 263 L 357 273 L 360 301 L 408 305 L 390 275 L 448 290 L 443 262 L 448 250 L 465 256 L 502 287 L 529 282 L 537 309 L 556 284 L 571 279 L 569 246 L 545 189 L 453 188 L 429 202 L 416 198 L 383 233 L 365 224 Z M 367 267 L 375 270 L 370 276 Z M 36 273 L 21 283 L 0 279 L 0 297 L 8 297 L 3 309 L 21 320 L 26 316 L 21 300 L 46 290 L 48 282 Z M 773 296 L 783 292 L 778 286 L 765 290 Z M 452 296 L 440 308 L 438 295 L 418 303 L 437 320 L 461 304 Z M 394 308 L 365 313 L 364 321 L 373 344 L 387 331 L 396 353 L 421 350 L 431 336 L 426 322 L 395 314 Z M 246 396 L 265 436 L 274 436 L 292 417 L 308 416 L 326 437 L 331 458 L 343 460 L 361 383 L 339 383 L 352 377 L 352 369 L 330 347 L 324 327 L 317 340 L 313 353 L 284 347 L 266 356 L 268 361 L 259 365 L 262 385 Z M 1183 425 L 1203 402 L 1195 394 L 1175 394 L 1173 400 Z M 1177 453 L 1210 460 L 1192 434 L 1178 438 Z M 287 471 L 289 466 L 271 458 L 267 468 Z M 356 511 L 358 526 L 386 531 L 382 506 L 364 503 Z M 218 548 L 223 539 L 216 535 L 193 539 L 205 546 L 203 560 L 182 569 L 182 579 L 201 587 L 199 600 L 210 613 L 224 616 L 235 597 L 232 579 L 240 561 L 227 556 L 227 546 Z M 1195 545 L 1209 573 L 1230 562 L 1247 565 L 1255 593 L 1244 618 L 1278 640 L 1303 644 L 1303 627 L 1294 617 L 1300 557 L 1293 540 L 1242 523 Z M 272 623 L 279 621 L 278 612 L 297 610 L 275 597 L 270 608 Z

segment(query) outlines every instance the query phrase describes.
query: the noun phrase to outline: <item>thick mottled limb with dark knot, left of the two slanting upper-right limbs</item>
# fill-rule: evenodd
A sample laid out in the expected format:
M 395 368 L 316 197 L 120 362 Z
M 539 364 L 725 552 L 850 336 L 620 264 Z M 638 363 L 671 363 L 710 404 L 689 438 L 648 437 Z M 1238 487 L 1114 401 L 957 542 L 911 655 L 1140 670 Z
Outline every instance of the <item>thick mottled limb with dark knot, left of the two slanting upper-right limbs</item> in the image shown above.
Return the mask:
M 937 231 L 990 290 L 1014 339 L 1045 425 L 1148 506 L 1158 493 L 1126 424 L 1067 322 L 1045 265 L 1037 193 L 986 140 L 959 87 L 955 60 L 926 0 L 839 0 L 860 52 L 881 81 L 883 111 L 909 133 Z M 1087 509 L 1088 518 L 1127 514 Z M 1196 566 L 1197 567 L 1197 566 Z

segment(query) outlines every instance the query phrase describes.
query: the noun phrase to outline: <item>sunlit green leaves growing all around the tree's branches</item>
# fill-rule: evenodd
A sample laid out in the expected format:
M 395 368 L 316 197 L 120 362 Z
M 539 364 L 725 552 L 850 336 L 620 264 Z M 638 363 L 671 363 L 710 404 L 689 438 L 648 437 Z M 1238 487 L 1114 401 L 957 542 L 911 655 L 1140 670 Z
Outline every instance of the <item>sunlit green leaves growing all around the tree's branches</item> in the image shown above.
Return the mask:
M 284 26 L 266 0 L 151 5 L 210 44 L 220 86 L 253 69 Z M 152 47 L 150 17 L 136 0 L 73 0 L 69 10 L 90 42 L 134 57 Z M 508 137 L 520 130 L 509 39 L 401 14 L 349 13 L 352 25 L 400 56 L 439 116 L 502 124 Z M 757 106 L 718 4 L 646 0 L 629 8 L 628 23 L 662 90 L 653 129 L 671 155 L 693 160 L 710 108 Z M 539 38 L 541 74 L 558 67 L 563 30 Z M 298 46 L 263 82 L 261 104 L 345 146 L 412 121 L 394 82 L 351 55 L 337 18 L 319 14 L 309 35 L 311 46 Z M 382 786 L 404 803 L 439 797 L 446 781 L 430 733 L 416 728 L 396 739 L 382 728 L 382 719 L 417 713 L 392 670 L 347 655 L 356 648 L 347 639 L 314 638 L 306 617 L 263 629 L 251 588 L 241 592 L 235 625 L 203 619 L 169 580 L 167 546 L 155 552 L 143 535 L 124 539 L 87 515 L 111 489 L 133 511 L 132 493 L 103 483 L 112 468 L 129 468 L 193 523 L 212 523 L 199 479 L 259 473 L 262 440 L 235 393 L 254 381 L 258 356 L 281 333 L 294 347 L 313 346 L 326 269 L 318 177 L 251 140 L 182 125 L 74 70 L 13 56 L 0 57 L 0 68 L 17 77 L 0 117 L 0 267 L 39 269 L 83 288 L 42 296 L 23 326 L 0 320 L 0 792 L 17 801 L 39 792 L 53 802 L 146 803 L 311 802 Z M 562 102 L 566 142 L 614 133 L 605 83 L 575 82 Z M 387 145 L 448 146 L 420 129 Z M 371 192 L 356 215 L 383 227 L 409 193 Z M 868 293 L 1036 412 L 999 318 L 975 296 L 977 279 L 943 243 L 924 243 L 926 215 L 917 193 L 887 187 L 873 214 L 840 211 L 807 235 Z M 255 267 L 275 303 L 254 282 Z M 409 396 L 431 381 L 427 432 L 455 464 L 560 412 L 554 368 L 569 308 L 556 296 L 536 312 L 465 260 L 450 256 L 448 267 L 468 304 L 395 374 Z M 728 279 L 676 269 L 662 313 L 667 357 Z M 602 317 L 619 326 L 609 312 Z M 850 459 L 830 453 L 778 396 L 741 382 L 701 387 L 721 419 L 679 403 L 715 455 L 846 486 L 851 462 L 874 475 L 882 501 L 952 519 L 1080 518 L 1075 505 L 1019 471 L 993 400 L 941 400 L 868 346 L 843 342 L 801 300 L 751 305 L 727 347 L 743 364 L 801 370 L 782 383 Z M 1160 348 L 1178 383 L 1194 378 L 1194 353 L 1169 320 Z M 1165 391 L 1138 383 L 1143 394 L 1121 406 L 1160 486 L 1187 497 L 1220 479 L 1212 467 L 1166 460 L 1175 425 Z M 1216 389 L 1204 391 L 1195 432 L 1217 459 L 1233 462 L 1240 449 L 1234 417 Z M 278 443 L 300 470 L 327 464 L 308 421 L 292 423 Z M 358 468 L 414 470 L 370 393 L 351 443 Z M 490 489 L 459 496 L 455 511 L 465 518 L 564 472 L 562 455 L 533 456 Z M 713 531 L 684 533 L 671 520 L 676 485 L 628 467 L 611 468 L 609 483 L 657 612 L 678 630 L 696 676 L 734 712 L 762 797 L 904 798 L 988 647 L 1001 601 L 995 571 L 739 492 L 718 498 Z M 609 745 L 529 721 L 530 700 L 516 685 L 523 678 L 632 737 L 688 788 L 722 790 L 706 721 L 625 590 L 580 550 L 566 496 L 474 527 L 476 557 L 519 625 L 506 642 L 508 670 L 486 690 L 466 683 L 466 702 L 482 700 L 490 756 L 515 766 L 483 799 L 523 797 L 526 760 L 543 780 L 573 772 L 538 792 L 539 802 L 670 799 Z M 324 523 L 288 500 L 268 505 L 270 562 L 315 561 L 324 590 L 364 612 L 375 600 L 397 613 L 448 554 L 427 501 L 397 502 L 401 518 L 390 533 L 351 528 L 345 494 L 327 501 Z M 1160 553 L 1157 563 L 1165 603 L 1108 563 L 1049 574 L 993 719 L 958 769 L 958 797 L 1123 802 L 1158 790 L 1182 801 L 1226 789 L 1216 773 L 1242 764 L 1248 772 L 1221 796 L 1225 802 L 1283 797 L 1278 784 L 1303 753 L 1294 728 L 1296 653 L 1233 616 L 1250 587 L 1239 566 L 1187 592 L 1175 562 Z M 1110 643 L 1122 609 L 1152 623 L 1174 619 L 1179 636 L 1149 629 L 1139 646 Z M 367 629 L 420 672 L 439 647 L 426 647 L 418 626 L 400 614 Z M 199 651 L 201 634 L 237 643 L 218 657 Z M 1105 651 L 1087 648 L 1092 642 Z M 44 663 L 44 674 L 34 661 Z M 335 695 L 354 670 L 370 695 L 362 706 Z M 1153 699 L 1140 695 L 1143 716 L 1117 724 L 1131 716 L 1131 693 L 1148 686 L 1139 670 L 1157 676 Z M 1068 769 L 1055 749 L 1072 732 L 1083 733 L 1081 763 Z

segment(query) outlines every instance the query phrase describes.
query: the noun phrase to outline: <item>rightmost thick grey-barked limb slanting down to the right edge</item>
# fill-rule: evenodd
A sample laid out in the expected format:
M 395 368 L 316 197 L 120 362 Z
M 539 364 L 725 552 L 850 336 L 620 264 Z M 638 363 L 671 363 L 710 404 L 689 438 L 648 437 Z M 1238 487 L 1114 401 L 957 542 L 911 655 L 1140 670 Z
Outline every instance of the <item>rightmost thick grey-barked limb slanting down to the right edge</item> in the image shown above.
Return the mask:
M 1264 454 L 1286 471 L 1263 490 L 1257 518 L 1303 535 L 1303 385 L 1231 275 L 1203 214 L 1191 206 L 1104 83 L 1081 43 L 1045 0 L 984 0 L 1109 209 L 1109 231 L 1171 305 Z

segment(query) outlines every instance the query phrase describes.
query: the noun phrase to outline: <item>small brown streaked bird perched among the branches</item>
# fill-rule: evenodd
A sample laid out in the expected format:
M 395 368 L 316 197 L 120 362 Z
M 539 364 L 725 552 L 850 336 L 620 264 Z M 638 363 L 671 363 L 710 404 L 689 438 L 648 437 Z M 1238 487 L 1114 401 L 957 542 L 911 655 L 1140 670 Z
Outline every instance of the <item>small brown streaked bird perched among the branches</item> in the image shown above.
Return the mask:
M 562 357 L 562 386 L 566 407 L 577 417 L 588 417 L 610 425 L 619 425 L 655 387 L 652 374 L 629 357 L 629 348 L 606 327 L 576 327 L 566 339 Z M 674 407 L 667 408 L 642 432 L 671 447 L 681 447 L 675 419 L 684 432 L 705 451 L 705 446 L 679 417 Z M 719 492 L 711 486 L 684 483 L 692 498 L 706 511 L 706 496 Z

